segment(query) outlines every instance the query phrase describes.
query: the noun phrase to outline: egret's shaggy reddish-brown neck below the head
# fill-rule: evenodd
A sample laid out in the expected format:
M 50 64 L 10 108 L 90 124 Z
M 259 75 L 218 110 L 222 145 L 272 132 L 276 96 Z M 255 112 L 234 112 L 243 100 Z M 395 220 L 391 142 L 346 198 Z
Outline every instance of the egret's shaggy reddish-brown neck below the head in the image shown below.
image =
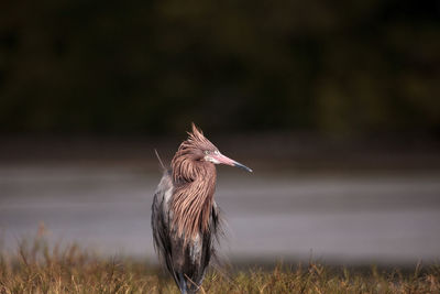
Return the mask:
M 185 240 L 197 238 L 209 229 L 216 190 L 216 166 L 198 162 L 194 166 L 173 166 L 173 224 Z

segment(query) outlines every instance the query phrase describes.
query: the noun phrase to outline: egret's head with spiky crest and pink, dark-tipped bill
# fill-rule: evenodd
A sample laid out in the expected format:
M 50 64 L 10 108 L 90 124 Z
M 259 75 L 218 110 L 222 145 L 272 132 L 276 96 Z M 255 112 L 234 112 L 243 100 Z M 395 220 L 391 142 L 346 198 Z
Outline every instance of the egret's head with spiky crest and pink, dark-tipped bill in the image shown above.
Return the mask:
M 226 164 L 252 172 L 248 166 L 221 154 L 219 149 L 204 135 L 200 129 L 198 129 L 194 123 L 191 127 L 193 131 L 188 132 L 188 139 L 180 144 L 173 162 L 177 160 L 176 157 L 182 156 L 193 162 Z

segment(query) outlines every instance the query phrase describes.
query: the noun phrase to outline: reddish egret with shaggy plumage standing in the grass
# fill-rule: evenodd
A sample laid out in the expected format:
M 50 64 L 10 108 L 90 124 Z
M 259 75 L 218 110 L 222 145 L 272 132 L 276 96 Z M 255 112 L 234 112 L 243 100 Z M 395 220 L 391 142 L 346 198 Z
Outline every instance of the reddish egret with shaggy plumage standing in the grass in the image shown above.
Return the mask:
M 163 176 L 152 204 L 154 248 L 180 293 L 197 293 L 216 255 L 215 241 L 222 236 L 220 210 L 213 199 L 216 164 L 252 170 L 221 154 L 195 123 L 169 168 L 157 151 L 156 155 Z

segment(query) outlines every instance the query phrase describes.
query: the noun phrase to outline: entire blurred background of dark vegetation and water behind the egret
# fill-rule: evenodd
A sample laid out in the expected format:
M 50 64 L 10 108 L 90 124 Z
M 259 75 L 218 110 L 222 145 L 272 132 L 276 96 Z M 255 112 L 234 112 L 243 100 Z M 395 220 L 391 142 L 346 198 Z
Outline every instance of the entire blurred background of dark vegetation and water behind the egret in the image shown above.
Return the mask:
M 42 221 L 153 257 L 153 149 L 194 121 L 255 171 L 219 167 L 227 255 L 438 260 L 439 3 L 2 3 L 6 247 Z

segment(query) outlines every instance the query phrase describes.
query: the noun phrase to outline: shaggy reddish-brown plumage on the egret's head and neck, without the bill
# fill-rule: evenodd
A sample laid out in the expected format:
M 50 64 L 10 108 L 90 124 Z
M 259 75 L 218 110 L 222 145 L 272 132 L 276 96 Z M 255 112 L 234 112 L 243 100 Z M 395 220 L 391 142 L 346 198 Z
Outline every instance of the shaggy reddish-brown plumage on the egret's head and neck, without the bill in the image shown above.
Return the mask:
M 188 135 L 172 161 L 176 187 L 172 203 L 173 226 L 185 242 L 208 230 L 217 177 L 215 165 L 204 160 L 205 151 L 213 152 L 217 148 L 194 123 Z

